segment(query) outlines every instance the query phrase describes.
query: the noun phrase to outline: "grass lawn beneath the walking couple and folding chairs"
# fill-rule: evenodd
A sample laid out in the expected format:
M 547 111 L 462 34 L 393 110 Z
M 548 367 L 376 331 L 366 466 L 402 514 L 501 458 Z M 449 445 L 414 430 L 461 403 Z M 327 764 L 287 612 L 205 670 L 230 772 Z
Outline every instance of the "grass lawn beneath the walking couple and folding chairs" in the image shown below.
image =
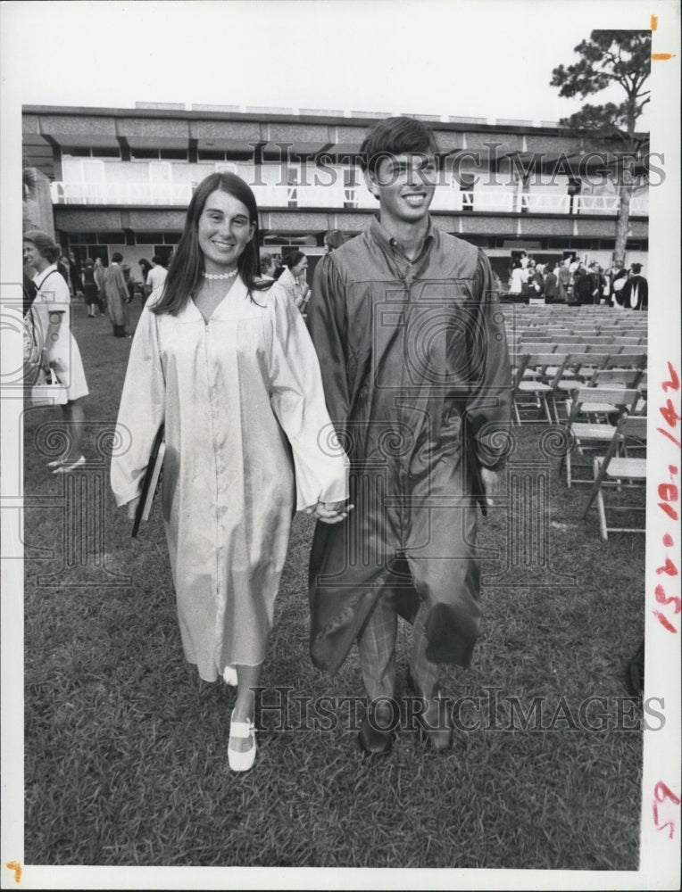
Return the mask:
M 644 636 L 645 540 L 602 542 L 596 511 L 580 519 L 586 490 L 567 490 L 545 457 L 545 427 L 516 429 L 501 505 L 481 524 L 499 556 L 483 564 L 473 664 L 445 672 L 447 693 L 470 698 L 453 750 L 424 751 L 404 730 L 391 756 L 368 761 L 350 706 L 306 716 L 305 698 L 361 695 L 362 680 L 354 652 L 333 678 L 311 664 L 312 522 L 296 516 L 260 752 L 235 775 L 233 689 L 184 661 L 158 508 L 132 541 L 97 458 L 130 342 L 80 303 L 73 317 L 87 471 L 46 470 L 58 409 L 31 409 L 25 424 L 26 863 L 636 870 L 641 716 L 624 698 Z M 408 644 L 402 628 L 402 680 Z M 292 730 L 265 708 L 277 698 Z

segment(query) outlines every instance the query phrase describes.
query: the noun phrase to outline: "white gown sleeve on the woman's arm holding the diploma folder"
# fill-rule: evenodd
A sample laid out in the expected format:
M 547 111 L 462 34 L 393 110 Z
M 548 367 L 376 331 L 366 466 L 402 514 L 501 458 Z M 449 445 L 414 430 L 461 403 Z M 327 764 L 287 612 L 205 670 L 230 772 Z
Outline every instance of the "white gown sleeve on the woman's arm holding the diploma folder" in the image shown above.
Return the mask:
M 137 498 L 154 437 L 165 417 L 165 379 L 159 350 L 159 317 L 146 302 L 130 347 L 112 455 L 116 504 Z

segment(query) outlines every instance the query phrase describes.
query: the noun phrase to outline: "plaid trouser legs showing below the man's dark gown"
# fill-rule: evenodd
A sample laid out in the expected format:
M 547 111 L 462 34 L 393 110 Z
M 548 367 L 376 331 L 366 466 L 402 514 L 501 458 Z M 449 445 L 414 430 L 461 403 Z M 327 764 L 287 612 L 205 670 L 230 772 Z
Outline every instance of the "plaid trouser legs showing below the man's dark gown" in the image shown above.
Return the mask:
M 440 669 L 426 658 L 427 638 L 424 620 L 428 607 L 422 602 L 412 625 L 410 672 L 417 692 L 426 698 L 436 694 Z M 395 697 L 395 641 L 398 615 L 385 599 L 378 600 L 358 635 L 358 655 L 367 697 Z

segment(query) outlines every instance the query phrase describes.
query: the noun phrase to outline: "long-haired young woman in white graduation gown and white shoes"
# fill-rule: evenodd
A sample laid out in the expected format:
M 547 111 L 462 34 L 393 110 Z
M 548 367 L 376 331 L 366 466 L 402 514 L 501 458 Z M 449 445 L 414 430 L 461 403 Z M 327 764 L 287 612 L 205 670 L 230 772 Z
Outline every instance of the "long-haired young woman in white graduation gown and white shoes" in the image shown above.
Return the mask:
M 229 764 L 254 763 L 254 692 L 295 510 L 337 523 L 347 459 L 301 314 L 259 280 L 258 209 L 234 174 L 197 186 L 131 345 L 112 490 L 132 518 L 164 425 L 162 511 L 187 660 L 236 670 Z M 226 674 L 227 677 L 227 674 Z

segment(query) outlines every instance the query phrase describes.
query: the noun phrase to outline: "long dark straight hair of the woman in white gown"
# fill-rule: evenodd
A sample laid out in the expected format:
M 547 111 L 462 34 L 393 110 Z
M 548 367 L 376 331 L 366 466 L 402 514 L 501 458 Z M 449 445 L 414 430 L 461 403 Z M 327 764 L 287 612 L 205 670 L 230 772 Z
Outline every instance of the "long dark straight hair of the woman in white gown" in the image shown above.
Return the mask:
M 227 192 L 237 201 L 242 202 L 249 212 L 249 221 L 255 224 L 254 235 L 237 260 L 237 270 L 248 289 L 249 297 L 252 297 L 253 291 L 261 291 L 271 285 L 270 282 L 259 281 L 261 275 L 261 262 L 258 255 L 260 232 L 258 206 L 254 193 L 241 177 L 237 177 L 237 174 L 212 173 L 195 188 L 187 208 L 185 229 L 173 254 L 161 299 L 152 307 L 152 312 L 175 315 L 199 290 L 204 273 L 204 255 L 199 248 L 198 238 L 199 218 L 204 210 L 206 199 L 216 190 Z

